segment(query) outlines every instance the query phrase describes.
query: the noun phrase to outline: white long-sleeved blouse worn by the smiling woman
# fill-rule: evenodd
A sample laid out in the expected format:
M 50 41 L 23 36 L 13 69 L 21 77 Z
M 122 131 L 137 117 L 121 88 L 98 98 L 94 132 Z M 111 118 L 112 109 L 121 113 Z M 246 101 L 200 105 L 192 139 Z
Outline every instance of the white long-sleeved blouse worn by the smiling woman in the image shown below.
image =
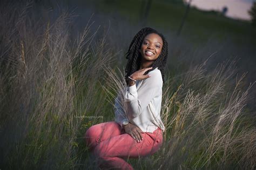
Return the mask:
M 114 100 L 114 120 L 121 127 L 123 121 L 130 121 L 143 132 L 153 133 L 157 127 L 165 131 L 160 117 L 163 87 L 161 72 L 157 67 L 149 74 L 151 77 L 125 87 Z

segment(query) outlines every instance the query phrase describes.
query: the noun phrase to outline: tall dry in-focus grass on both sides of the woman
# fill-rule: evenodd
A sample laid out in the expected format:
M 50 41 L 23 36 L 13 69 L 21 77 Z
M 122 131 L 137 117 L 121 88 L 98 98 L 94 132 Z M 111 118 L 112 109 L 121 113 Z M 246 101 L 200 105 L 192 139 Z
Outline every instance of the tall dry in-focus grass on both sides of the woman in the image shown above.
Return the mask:
M 124 73 L 92 22 L 74 38 L 72 13 L 38 19 L 33 5 L 0 7 L 0 168 L 95 169 L 84 133 L 113 120 Z M 256 131 L 245 107 L 252 85 L 242 90 L 233 62 L 212 71 L 206 62 L 166 76 L 164 145 L 128 160 L 135 169 L 255 168 Z

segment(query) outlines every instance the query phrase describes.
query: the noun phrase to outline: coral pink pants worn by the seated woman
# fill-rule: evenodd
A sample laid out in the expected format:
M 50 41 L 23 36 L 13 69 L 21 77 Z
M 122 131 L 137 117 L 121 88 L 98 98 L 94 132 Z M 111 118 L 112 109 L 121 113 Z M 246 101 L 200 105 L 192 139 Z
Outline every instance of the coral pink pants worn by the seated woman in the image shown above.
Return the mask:
M 100 169 L 133 169 L 124 159 L 152 155 L 163 143 L 159 127 L 153 133 L 143 132 L 142 137 L 137 142 L 115 121 L 93 125 L 85 133 L 86 145 Z

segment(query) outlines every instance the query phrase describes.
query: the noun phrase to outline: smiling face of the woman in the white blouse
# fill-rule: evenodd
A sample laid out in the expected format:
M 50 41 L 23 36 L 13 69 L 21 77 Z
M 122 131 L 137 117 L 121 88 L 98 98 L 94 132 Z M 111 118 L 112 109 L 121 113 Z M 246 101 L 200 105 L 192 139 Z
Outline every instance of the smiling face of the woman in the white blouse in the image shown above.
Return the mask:
M 143 39 L 142 47 L 140 47 L 142 59 L 144 61 L 156 60 L 161 53 L 162 47 L 163 39 L 156 33 L 150 33 Z

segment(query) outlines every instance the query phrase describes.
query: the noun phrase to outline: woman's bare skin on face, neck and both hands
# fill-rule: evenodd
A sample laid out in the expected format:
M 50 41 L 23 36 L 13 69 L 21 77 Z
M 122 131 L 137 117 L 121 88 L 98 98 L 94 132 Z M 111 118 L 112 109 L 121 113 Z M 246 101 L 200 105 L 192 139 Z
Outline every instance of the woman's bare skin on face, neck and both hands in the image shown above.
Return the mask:
M 152 69 L 152 67 L 149 67 L 152 65 L 154 60 L 156 60 L 160 53 L 163 46 L 163 40 L 159 35 L 156 33 L 150 33 L 147 35 L 142 43 L 142 46 L 140 47 L 140 53 L 142 55 L 142 63 L 140 64 L 140 70 L 134 72 L 131 74 L 131 78 L 134 80 L 143 80 L 146 78 L 149 78 L 150 75 L 144 73 L 147 70 Z M 135 84 L 135 81 L 129 79 L 129 86 L 133 86 Z M 124 126 L 124 130 L 127 134 L 130 134 L 133 139 L 135 139 L 137 142 L 141 142 L 143 140 L 142 138 L 142 130 L 136 125 L 133 125 L 129 122 L 128 125 Z

